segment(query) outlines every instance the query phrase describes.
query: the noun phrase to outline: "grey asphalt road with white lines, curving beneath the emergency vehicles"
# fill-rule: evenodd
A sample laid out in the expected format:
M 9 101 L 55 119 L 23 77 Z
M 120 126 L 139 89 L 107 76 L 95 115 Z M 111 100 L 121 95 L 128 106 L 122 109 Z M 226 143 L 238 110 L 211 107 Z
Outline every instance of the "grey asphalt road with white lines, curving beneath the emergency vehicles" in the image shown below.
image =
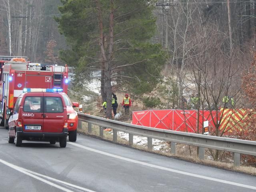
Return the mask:
M 256 192 L 256 177 L 150 154 L 89 136 L 9 144 L 0 128 L 0 192 Z

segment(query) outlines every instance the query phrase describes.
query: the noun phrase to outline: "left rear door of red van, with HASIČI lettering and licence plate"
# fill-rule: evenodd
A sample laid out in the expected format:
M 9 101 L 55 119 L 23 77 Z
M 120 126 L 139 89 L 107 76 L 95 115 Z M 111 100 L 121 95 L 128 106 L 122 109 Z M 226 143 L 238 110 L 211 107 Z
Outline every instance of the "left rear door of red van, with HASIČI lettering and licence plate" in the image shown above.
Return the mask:
M 43 93 L 35 96 L 25 96 L 22 104 L 21 114 L 24 131 L 43 131 Z

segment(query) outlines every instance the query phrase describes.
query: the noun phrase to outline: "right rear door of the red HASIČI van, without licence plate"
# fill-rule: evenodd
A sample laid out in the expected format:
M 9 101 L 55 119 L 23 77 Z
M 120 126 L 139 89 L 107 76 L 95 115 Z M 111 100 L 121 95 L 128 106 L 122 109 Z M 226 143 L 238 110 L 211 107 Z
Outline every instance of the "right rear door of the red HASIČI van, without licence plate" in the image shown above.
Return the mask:
M 62 96 L 44 93 L 44 132 L 62 132 L 65 120 L 67 120 L 67 112 Z

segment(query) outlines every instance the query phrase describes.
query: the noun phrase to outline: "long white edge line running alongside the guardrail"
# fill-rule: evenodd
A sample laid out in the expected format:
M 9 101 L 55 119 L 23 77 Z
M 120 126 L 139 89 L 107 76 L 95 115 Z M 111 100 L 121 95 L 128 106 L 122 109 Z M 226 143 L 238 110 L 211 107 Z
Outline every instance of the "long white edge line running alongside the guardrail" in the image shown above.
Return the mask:
M 226 181 L 226 180 L 221 180 L 221 179 L 216 179 L 216 178 L 212 178 L 212 177 L 207 177 L 207 176 L 202 176 L 202 175 L 198 175 L 198 174 L 193 174 L 193 173 L 188 173 L 188 172 L 184 172 L 184 171 L 179 171 L 179 170 L 174 170 L 174 169 L 170 169 L 170 168 L 166 168 L 166 167 L 162 167 L 162 166 L 157 166 L 157 165 L 153 165 L 153 164 L 149 164 L 149 163 L 145 163 L 145 162 L 141 162 L 141 161 L 137 161 L 137 160 L 132 160 L 129 158 L 125 158 L 122 156 L 118 156 L 118 155 L 114 155 L 114 154 L 110 154 L 110 153 L 106 153 L 100 150 L 96 150 L 93 148 L 89 148 L 86 146 L 82 146 L 80 144 L 76 144 L 73 142 L 68 142 L 68 144 L 92 151 L 92 152 L 96 152 L 96 153 L 100 153 L 106 156 L 110 156 L 110 157 L 114 157 L 117 159 L 121 159 L 121 160 L 125 160 L 128 162 L 133 162 L 136 164 L 141 164 L 144 166 L 149 166 L 149 167 L 153 167 L 153 168 L 157 168 L 157 169 L 161 169 L 161 170 L 166 170 L 166 171 L 170 171 L 170 172 L 174 172 L 174 173 L 179 173 L 179 174 L 183 174 L 183 175 L 188 175 L 188 176 L 192 176 L 192 177 L 197 177 L 197 178 L 202 178 L 202 179 L 206 179 L 206 180 L 211 180 L 211 181 L 216 181 L 216 182 L 220 182 L 220 183 L 224 183 L 224 184 L 230 184 L 230 185 L 234 185 L 234 186 L 239 186 L 239 187 L 244 187 L 244 188 L 248 188 L 248 189 L 253 189 L 256 190 L 256 186 L 250 186 L 250 185 L 245 185 L 245 184 L 240 184 L 240 183 L 236 183 L 236 182 L 231 182 L 231 181 Z

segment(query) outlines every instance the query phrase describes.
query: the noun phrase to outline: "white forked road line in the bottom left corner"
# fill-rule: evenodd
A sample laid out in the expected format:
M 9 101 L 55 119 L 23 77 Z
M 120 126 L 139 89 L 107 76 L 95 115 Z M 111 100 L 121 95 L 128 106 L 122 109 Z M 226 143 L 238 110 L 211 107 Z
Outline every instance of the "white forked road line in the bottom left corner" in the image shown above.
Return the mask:
M 17 170 L 17 171 L 19 171 L 19 172 L 22 172 L 22 173 L 24 173 L 24 174 L 26 174 L 26 175 L 28 175 L 28 176 L 30 176 L 30 177 L 32 177 L 32 178 L 35 178 L 35 179 L 37 179 L 37 180 L 40 180 L 41 182 L 44 182 L 44 183 L 46 183 L 46 184 L 48 184 L 48 185 L 51 185 L 51 186 L 53 186 L 53 187 L 56 187 L 56 188 L 58 188 L 58 189 L 60 189 L 60 190 L 63 190 L 63 191 L 65 191 L 65 192 L 74 192 L 74 191 L 69 190 L 69 189 L 67 189 L 67 188 L 64 188 L 64 187 L 62 187 L 62 186 L 59 186 L 59 185 L 57 185 L 57 184 L 54 184 L 54 183 L 52 183 L 52 182 L 50 182 L 50 181 L 48 181 L 48 180 L 45 180 L 45 179 L 43 179 L 43 178 L 41 178 L 41 177 L 47 178 L 47 179 L 52 180 L 52 181 L 55 181 L 55 182 L 59 182 L 59 183 L 61 183 L 61 184 L 64 184 L 64 185 L 67 185 L 67 186 L 70 186 L 70 187 L 78 188 L 78 189 L 84 190 L 84 191 L 86 191 L 86 192 L 95 192 L 95 191 L 92 191 L 92 190 L 90 190 L 90 189 L 86 189 L 86 188 L 83 188 L 83 187 L 80 187 L 80 186 L 76 186 L 76 185 L 70 184 L 70 183 L 68 183 L 68 182 L 64 182 L 64 181 L 61 181 L 61 180 L 58 180 L 58 179 L 54 179 L 54 178 L 52 178 L 52 177 L 48 177 L 48 176 L 45 176 L 45 175 L 42 175 L 42 174 L 33 172 L 33 171 L 31 171 L 31 170 L 28 170 L 28 169 L 25 169 L 25 168 L 16 166 L 16 165 L 11 164 L 11 163 L 8 163 L 8 162 L 6 162 L 5 160 L 2 160 L 2 159 L 0 159 L 0 162 L 1 162 L 2 164 L 5 164 L 6 166 L 9 166 L 10 168 L 13 168 L 13 169 L 15 169 L 15 170 Z M 41 176 L 41 177 L 38 177 L 38 176 L 36 176 L 36 175 Z

